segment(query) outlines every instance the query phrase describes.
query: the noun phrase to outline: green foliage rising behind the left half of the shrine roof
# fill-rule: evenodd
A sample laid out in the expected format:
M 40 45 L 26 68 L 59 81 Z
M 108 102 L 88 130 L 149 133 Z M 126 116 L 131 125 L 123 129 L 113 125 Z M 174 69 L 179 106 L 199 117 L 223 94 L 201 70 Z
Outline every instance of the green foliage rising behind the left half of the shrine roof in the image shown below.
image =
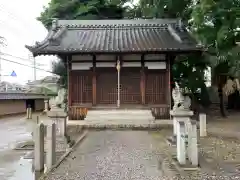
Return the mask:
M 122 19 L 127 1 L 120 0 L 51 0 L 37 19 L 50 28 L 58 19 Z

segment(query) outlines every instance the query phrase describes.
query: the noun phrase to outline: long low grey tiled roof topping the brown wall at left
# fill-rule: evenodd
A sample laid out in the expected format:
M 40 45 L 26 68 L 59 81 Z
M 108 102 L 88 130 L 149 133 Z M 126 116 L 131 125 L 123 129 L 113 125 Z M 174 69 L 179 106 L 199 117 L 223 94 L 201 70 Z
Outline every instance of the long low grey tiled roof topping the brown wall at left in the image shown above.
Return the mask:
M 14 99 L 45 99 L 43 94 L 36 93 L 5 93 L 0 92 L 0 100 L 14 100 Z M 48 98 L 48 97 L 47 97 Z

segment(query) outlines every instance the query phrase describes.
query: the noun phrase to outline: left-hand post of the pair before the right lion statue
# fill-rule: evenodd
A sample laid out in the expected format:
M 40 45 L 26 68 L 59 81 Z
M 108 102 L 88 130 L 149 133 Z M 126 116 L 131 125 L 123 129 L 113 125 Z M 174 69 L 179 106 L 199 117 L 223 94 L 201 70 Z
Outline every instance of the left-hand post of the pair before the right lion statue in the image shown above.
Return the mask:
M 177 160 L 179 164 L 186 164 L 185 123 L 177 121 Z

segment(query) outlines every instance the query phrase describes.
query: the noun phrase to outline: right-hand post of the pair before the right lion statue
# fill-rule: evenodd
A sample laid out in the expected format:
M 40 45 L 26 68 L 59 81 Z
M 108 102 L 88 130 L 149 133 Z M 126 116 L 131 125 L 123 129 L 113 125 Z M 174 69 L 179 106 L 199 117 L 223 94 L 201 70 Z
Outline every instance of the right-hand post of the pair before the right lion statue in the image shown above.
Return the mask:
M 198 166 L 197 123 L 191 121 L 190 142 L 188 145 L 188 158 L 193 166 Z

